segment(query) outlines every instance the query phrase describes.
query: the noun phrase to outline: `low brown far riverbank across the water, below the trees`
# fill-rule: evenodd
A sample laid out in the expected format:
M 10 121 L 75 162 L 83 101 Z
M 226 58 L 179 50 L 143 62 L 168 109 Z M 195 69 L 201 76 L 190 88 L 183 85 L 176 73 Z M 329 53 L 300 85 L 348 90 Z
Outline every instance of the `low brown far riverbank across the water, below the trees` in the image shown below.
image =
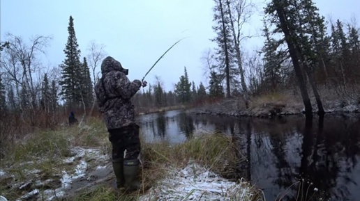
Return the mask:
M 311 97 L 313 113 L 317 113 L 317 104 Z M 322 104 L 326 113 L 360 113 L 360 102 L 324 95 Z M 209 115 L 231 115 L 237 117 L 269 118 L 280 115 L 302 115 L 305 111 L 299 95 L 290 93 L 269 93 L 260 97 L 252 97 L 246 108 L 241 98 L 224 99 L 216 104 L 204 104 L 188 110 L 190 113 Z

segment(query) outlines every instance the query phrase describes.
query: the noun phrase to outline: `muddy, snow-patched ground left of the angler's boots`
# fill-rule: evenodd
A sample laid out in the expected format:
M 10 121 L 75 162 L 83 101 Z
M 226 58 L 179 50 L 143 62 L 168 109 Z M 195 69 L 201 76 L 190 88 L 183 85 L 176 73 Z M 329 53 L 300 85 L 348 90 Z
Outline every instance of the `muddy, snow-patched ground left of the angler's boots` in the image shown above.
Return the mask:
M 63 159 L 62 164 L 68 166 L 67 171 L 54 175 L 28 168 L 24 177 L 29 180 L 22 179 L 23 182 L 15 179 L 16 168 L 1 170 L 1 195 L 8 200 L 66 200 L 100 184 L 114 184 L 110 158 L 100 148 L 75 147 L 72 156 Z

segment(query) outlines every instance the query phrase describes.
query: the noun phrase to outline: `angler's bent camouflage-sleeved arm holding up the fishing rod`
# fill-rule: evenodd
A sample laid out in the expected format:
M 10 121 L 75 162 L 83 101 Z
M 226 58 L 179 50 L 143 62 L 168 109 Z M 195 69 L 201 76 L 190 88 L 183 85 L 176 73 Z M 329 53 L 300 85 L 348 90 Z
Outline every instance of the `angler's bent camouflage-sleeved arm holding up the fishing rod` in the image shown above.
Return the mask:
M 117 78 L 115 81 L 116 91 L 123 99 L 130 99 L 133 97 L 142 86 L 140 80 L 135 79 L 134 81 L 130 81 L 122 72 L 117 72 L 115 77 Z

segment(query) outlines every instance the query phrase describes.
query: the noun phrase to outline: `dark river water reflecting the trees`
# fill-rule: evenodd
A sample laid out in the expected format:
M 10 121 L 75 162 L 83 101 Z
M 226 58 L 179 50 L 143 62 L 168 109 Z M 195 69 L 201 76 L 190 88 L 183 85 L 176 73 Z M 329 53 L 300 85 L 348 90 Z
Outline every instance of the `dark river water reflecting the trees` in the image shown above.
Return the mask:
M 213 131 L 237 136 L 248 159 L 241 176 L 262 189 L 266 200 L 297 200 L 298 192 L 307 195 L 298 200 L 360 200 L 360 115 L 306 120 L 168 111 L 142 115 L 138 123 L 150 142 L 181 143 Z

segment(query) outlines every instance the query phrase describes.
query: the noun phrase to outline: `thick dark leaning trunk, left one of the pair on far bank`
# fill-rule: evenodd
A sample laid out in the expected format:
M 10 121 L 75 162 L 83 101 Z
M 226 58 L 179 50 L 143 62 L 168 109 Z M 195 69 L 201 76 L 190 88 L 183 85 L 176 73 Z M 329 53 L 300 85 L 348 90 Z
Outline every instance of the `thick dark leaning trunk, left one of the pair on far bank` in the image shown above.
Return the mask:
M 279 8 L 278 5 L 276 6 L 277 6 L 276 12 L 280 20 L 280 26 L 285 35 L 285 40 L 287 42 L 287 46 L 289 47 L 289 53 L 292 58 L 292 64 L 294 65 L 295 74 L 297 75 L 297 79 L 299 81 L 301 97 L 303 98 L 303 104 L 305 106 L 305 115 L 306 117 L 312 117 L 313 107 L 311 106 L 310 98 L 308 96 L 308 91 L 306 90 L 305 81 L 303 79 L 303 74 L 301 72 L 301 67 L 299 64 L 299 57 L 297 56 L 297 50 L 294 47 L 294 42 L 292 41 L 292 35 L 290 34 L 289 27 L 287 26 L 285 14 L 283 12 L 284 8 Z

